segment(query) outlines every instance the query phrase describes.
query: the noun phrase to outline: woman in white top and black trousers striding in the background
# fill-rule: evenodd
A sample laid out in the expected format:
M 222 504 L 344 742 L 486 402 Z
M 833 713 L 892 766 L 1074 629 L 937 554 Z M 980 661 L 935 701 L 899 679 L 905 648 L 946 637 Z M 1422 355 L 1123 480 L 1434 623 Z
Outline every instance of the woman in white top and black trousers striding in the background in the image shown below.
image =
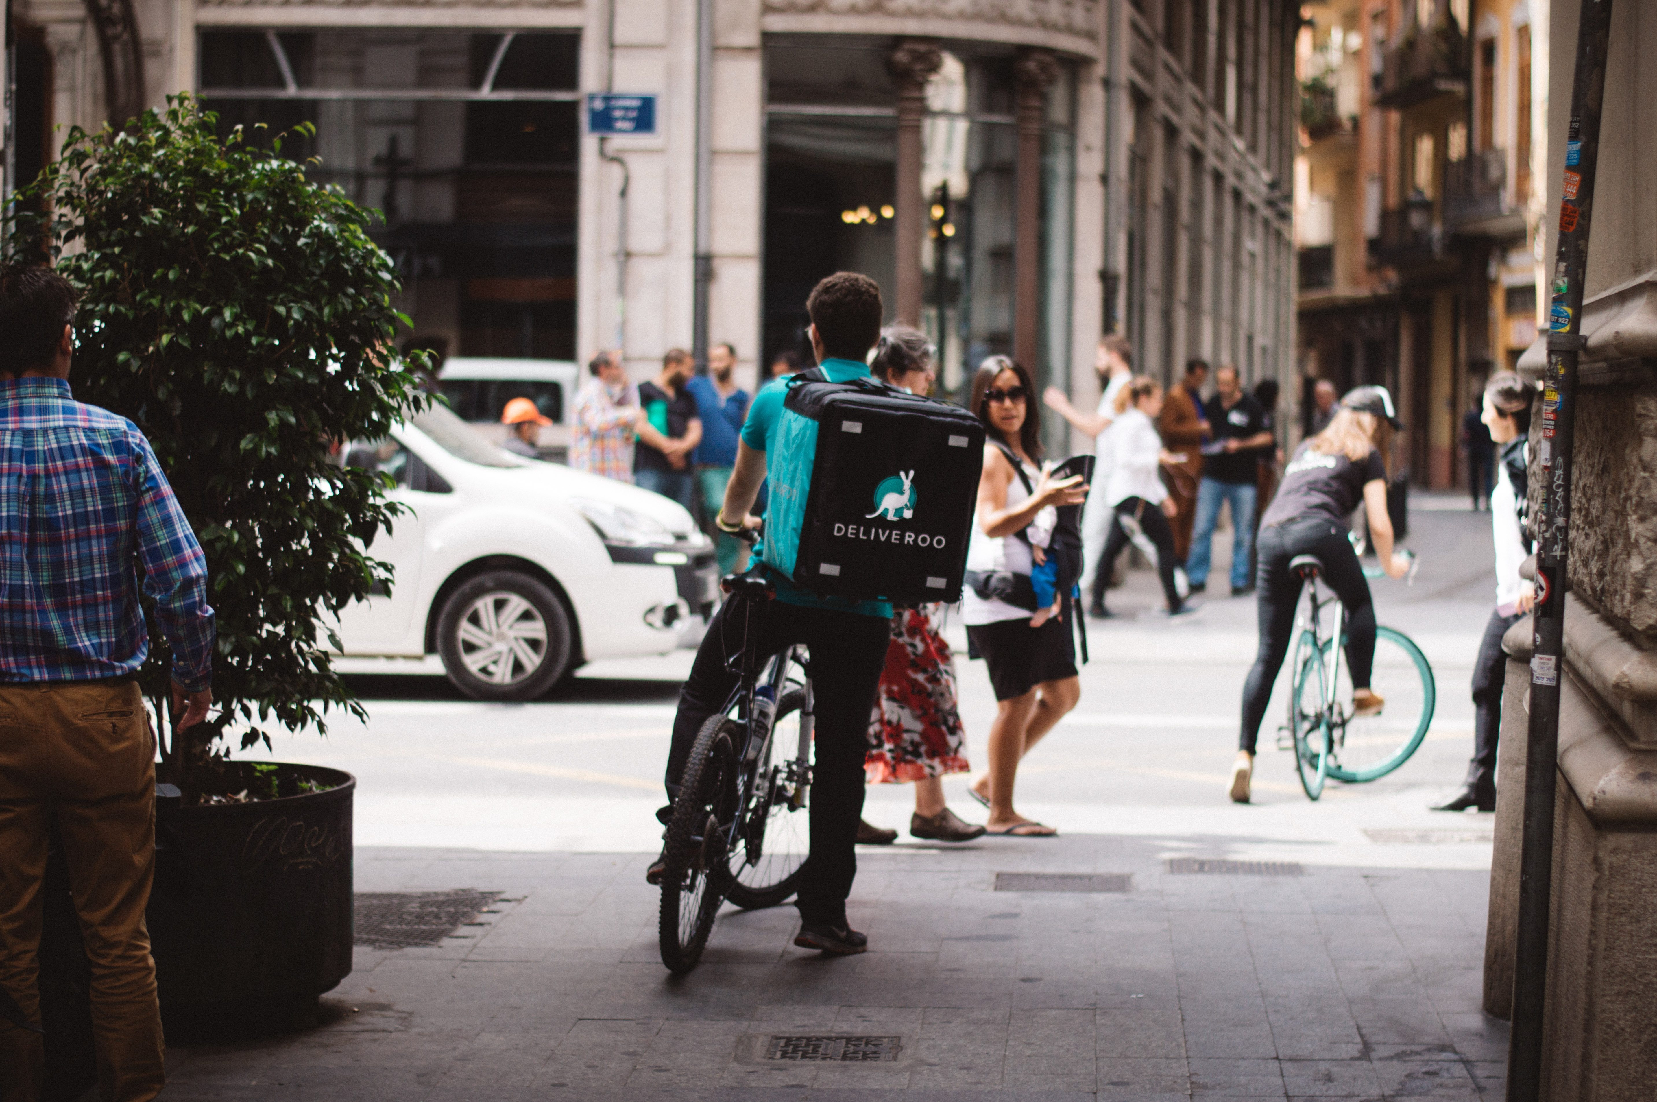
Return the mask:
M 1168 598 L 1170 616 L 1188 616 L 1196 611 L 1186 605 L 1175 585 L 1173 529 L 1168 519 L 1175 514 L 1168 489 L 1162 484 L 1158 467 L 1171 462 L 1157 434 L 1157 416 L 1162 413 L 1162 386 L 1148 375 L 1140 375 L 1117 394 L 1117 421 L 1110 426 L 1114 466 L 1105 482 L 1105 504 L 1117 514 L 1110 529 L 1110 542 L 1100 562 L 1102 577 L 1115 567 L 1117 555 L 1128 545 L 1130 532 L 1142 530 L 1157 545 L 1157 573 L 1162 592 Z

